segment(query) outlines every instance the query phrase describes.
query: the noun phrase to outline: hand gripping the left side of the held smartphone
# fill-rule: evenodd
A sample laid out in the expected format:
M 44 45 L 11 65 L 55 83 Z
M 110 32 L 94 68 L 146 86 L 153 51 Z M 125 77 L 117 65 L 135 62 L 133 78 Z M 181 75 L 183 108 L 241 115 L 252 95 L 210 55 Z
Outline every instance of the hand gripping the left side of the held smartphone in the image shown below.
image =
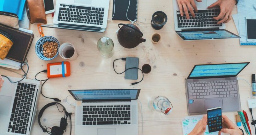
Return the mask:
M 194 129 L 188 135 L 203 135 L 206 130 L 207 125 L 207 115 L 204 115 L 203 118 L 196 124 Z

